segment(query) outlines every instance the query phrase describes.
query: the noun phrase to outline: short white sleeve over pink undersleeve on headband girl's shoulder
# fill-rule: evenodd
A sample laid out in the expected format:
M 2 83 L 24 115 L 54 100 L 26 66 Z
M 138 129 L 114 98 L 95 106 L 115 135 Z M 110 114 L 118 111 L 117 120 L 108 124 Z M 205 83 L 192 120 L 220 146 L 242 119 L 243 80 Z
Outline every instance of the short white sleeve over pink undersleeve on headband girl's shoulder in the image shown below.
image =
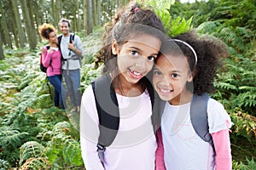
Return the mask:
M 232 126 L 230 115 L 215 99 L 209 99 L 207 106 L 209 133 L 217 133 Z

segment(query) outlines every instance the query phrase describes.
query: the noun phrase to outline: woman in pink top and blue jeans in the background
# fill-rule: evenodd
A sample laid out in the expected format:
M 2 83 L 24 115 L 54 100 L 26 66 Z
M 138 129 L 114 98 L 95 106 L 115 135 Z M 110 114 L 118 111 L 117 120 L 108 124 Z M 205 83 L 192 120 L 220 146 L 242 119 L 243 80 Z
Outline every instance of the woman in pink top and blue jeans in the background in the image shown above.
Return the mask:
M 54 26 L 44 23 L 38 28 L 42 38 L 49 41 L 49 49 L 44 47 L 42 51 L 42 63 L 47 67 L 46 76 L 49 82 L 54 86 L 55 106 L 61 103 L 61 109 L 64 109 L 64 104 L 61 96 L 61 51 L 57 45 L 58 38 Z M 63 88 L 64 89 L 64 88 Z M 63 90 L 62 89 L 62 90 Z

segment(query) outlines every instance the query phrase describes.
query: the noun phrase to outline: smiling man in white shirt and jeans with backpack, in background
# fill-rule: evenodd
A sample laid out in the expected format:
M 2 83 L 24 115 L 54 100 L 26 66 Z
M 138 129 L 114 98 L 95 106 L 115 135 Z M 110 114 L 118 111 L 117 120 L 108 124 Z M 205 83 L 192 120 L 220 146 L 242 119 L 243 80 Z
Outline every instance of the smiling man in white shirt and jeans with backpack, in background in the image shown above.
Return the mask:
M 70 97 L 71 111 L 79 112 L 81 102 L 80 67 L 83 56 L 82 42 L 79 36 L 70 33 L 70 21 L 61 19 L 59 29 L 62 35 L 58 37 L 62 54 L 62 76 L 67 85 Z M 68 107 L 66 106 L 66 109 Z

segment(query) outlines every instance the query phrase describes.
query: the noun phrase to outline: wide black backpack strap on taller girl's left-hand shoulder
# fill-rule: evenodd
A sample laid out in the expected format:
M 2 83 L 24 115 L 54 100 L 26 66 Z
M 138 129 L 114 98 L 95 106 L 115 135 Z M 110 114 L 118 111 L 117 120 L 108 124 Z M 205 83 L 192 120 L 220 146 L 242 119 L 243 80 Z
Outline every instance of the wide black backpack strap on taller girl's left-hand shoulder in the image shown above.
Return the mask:
M 119 129 L 119 105 L 111 77 L 103 75 L 91 82 L 99 117 L 100 136 L 98 144 L 109 146 Z M 110 113 L 110 114 L 109 114 Z

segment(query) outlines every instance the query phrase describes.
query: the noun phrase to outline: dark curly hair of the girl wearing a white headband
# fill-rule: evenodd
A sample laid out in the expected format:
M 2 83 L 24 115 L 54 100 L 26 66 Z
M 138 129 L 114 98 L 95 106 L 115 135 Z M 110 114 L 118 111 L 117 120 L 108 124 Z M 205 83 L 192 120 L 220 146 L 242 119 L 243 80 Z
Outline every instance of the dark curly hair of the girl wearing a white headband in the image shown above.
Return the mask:
M 199 37 L 195 31 L 189 31 L 172 38 L 181 40 L 184 43 L 175 40 L 167 42 L 160 49 L 160 53 L 182 53 L 186 56 L 189 62 L 189 69 L 194 76 L 193 82 L 187 82 L 186 87 L 193 94 L 213 93 L 215 91 L 213 81 L 217 74 L 219 61 L 221 57 L 230 55 L 227 46 L 216 37 L 210 37 L 209 35 Z M 173 42 L 175 45 L 173 45 Z M 194 48 L 195 54 L 185 42 Z M 195 55 L 197 56 L 197 61 Z

